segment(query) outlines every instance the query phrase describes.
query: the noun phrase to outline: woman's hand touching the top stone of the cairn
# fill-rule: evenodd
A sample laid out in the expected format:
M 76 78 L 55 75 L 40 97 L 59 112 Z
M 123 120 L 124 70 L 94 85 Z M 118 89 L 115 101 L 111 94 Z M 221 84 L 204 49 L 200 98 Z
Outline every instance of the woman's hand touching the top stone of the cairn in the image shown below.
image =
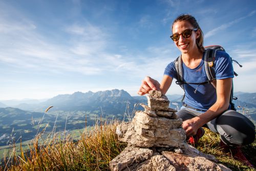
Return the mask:
M 150 90 L 160 90 L 160 83 L 152 79 L 151 77 L 147 76 L 142 80 L 138 94 L 144 95 L 148 93 L 148 91 Z

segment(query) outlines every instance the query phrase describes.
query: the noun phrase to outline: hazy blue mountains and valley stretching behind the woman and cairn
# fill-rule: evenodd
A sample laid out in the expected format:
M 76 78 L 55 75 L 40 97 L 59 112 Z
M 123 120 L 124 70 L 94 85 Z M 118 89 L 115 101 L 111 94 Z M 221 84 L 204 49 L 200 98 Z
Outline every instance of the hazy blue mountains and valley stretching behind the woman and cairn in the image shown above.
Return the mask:
M 238 97 L 233 101 L 238 110 L 256 120 L 256 93 L 234 94 Z M 170 107 L 179 109 L 183 95 L 167 95 Z M 56 131 L 81 129 L 92 126 L 101 117 L 115 117 L 127 119 L 125 116 L 135 110 L 143 110 L 139 103 L 147 104 L 146 96 L 131 96 L 124 90 L 106 90 L 92 92 L 75 92 L 61 94 L 44 102 L 25 100 L 8 101 L 9 105 L 0 102 L 0 145 L 6 144 L 14 132 L 23 135 L 23 140 L 31 139 L 38 132 L 38 126 L 44 128 L 48 123 L 48 130 Z M 27 102 L 27 103 L 24 103 Z M 11 106 L 10 104 L 14 104 Z M 45 110 L 53 106 L 47 113 Z M 40 120 L 44 118 L 44 120 Z M 85 121 L 87 120 L 87 121 Z M 16 134 L 17 135 L 17 134 Z

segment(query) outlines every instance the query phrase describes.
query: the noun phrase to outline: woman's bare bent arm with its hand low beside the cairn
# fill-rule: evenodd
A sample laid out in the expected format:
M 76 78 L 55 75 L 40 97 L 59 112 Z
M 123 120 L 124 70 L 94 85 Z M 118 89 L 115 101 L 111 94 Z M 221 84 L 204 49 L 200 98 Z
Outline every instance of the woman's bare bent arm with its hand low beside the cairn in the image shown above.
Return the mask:
M 212 105 L 205 113 L 183 121 L 182 127 L 186 131 L 187 136 L 195 135 L 200 127 L 228 109 L 231 87 L 232 78 L 217 80 L 216 103 Z

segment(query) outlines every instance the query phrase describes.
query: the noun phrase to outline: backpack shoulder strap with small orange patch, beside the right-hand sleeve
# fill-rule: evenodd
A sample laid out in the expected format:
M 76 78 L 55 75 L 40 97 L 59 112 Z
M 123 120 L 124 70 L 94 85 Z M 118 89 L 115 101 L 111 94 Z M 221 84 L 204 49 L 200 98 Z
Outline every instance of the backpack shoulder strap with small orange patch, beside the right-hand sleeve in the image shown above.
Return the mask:
M 204 69 L 206 72 L 206 76 L 209 81 L 211 81 L 211 85 L 216 89 L 216 75 L 215 75 L 215 56 L 216 50 L 206 49 L 204 54 Z

